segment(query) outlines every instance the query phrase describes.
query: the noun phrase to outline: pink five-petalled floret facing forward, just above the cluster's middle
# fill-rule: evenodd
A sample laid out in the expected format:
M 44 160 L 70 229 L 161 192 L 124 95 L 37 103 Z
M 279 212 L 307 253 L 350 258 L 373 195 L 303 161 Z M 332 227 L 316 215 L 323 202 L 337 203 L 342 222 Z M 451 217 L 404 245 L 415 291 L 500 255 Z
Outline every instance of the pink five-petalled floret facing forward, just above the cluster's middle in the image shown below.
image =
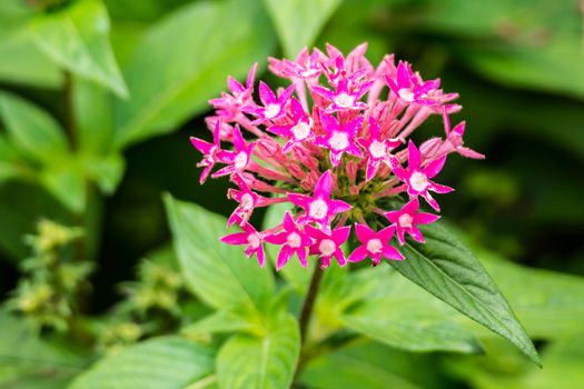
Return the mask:
M 315 144 L 330 150 L 330 163 L 338 166 L 344 152 L 355 157 L 363 157 L 363 153 L 355 143 L 355 137 L 363 126 L 363 117 L 357 117 L 340 127 L 334 116 L 320 112 L 320 122 L 326 134 L 317 137 Z

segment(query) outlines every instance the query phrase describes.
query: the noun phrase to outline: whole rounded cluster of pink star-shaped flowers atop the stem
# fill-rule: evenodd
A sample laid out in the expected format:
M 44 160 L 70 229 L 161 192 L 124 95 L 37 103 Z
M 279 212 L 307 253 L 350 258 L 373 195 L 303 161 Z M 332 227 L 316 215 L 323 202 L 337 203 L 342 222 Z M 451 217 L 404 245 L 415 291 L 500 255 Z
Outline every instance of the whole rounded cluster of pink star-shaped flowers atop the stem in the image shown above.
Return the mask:
M 406 233 L 424 242 L 417 226 L 438 219 L 420 211 L 419 198 L 438 212 L 432 192 L 453 191 L 434 182 L 446 157 L 484 158 L 463 146 L 464 122 L 451 129 L 449 114 L 461 110 L 451 103 L 456 93 L 444 93 L 438 79 L 424 81 L 407 62 L 396 66 L 394 56 L 375 68 L 366 49 L 345 57 L 327 46 L 326 53 L 304 49 L 296 61 L 270 58 L 269 70 L 289 86 L 275 91 L 259 81 L 257 97 L 257 64 L 245 84 L 229 78 L 229 92 L 210 100 L 212 143 L 190 139 L 204 154 L 200 182 L 229 176 L 237 186 L 228 192 L 237 202 L 228 225 L 241 232 L 221 240 L 245 246 L 260 266 L 265 243 L 280 248 L 277 269 L 295 255 L 303 266 L 317 256 L 321 267 L 333 258 L 340 266 L 402 260 L 394 236 L 396 246 Z M 409 137 L 430 114 L 443 117 L 445 134 L 417 147 Z M 249 223 L 255 208 L 280 202 L 290 203 L 281 223 L 265 231 Z M 347 255 L 353 226 L 358 246 Z

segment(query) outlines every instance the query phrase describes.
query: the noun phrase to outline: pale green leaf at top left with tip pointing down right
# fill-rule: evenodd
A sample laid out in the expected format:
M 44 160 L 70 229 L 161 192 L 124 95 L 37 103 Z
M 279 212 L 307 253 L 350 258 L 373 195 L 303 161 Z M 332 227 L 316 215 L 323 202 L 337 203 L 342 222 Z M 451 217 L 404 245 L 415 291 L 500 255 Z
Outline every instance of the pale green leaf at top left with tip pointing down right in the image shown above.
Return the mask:
M 32 23 L 34 41 L 52 61 L 120 97 L 128 89 L 109 43 L 109 17 L 99 0 L 72 2 Z

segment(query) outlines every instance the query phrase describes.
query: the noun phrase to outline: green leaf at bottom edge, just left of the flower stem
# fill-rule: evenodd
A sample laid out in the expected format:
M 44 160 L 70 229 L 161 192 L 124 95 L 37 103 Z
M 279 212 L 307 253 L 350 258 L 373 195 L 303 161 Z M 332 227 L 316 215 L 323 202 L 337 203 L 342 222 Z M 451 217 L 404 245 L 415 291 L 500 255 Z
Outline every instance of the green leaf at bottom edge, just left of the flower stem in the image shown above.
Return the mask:
M 300 351 L 297 320 L 287 315 L 265 337 L 231 337 L 217 356 L 220 388 L 289 388 Z

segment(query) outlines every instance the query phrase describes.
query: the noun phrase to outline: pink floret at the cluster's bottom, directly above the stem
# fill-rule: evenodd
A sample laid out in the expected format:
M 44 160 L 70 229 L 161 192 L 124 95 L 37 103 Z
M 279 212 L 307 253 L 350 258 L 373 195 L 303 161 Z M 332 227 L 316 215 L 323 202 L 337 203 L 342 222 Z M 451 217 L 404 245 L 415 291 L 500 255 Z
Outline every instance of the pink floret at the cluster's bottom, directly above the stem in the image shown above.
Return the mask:
M 320 258 L 320 268 L 328 268 L 333 257 L 335 257 L 338 265 L 347 265 L 342 246 L 349 237 L 350 226 L 340 227 L 331 231 L 306 226 L 306 232 L 308 232 L 308 236 L 314 239 L 309 253 L 317 255 Z

